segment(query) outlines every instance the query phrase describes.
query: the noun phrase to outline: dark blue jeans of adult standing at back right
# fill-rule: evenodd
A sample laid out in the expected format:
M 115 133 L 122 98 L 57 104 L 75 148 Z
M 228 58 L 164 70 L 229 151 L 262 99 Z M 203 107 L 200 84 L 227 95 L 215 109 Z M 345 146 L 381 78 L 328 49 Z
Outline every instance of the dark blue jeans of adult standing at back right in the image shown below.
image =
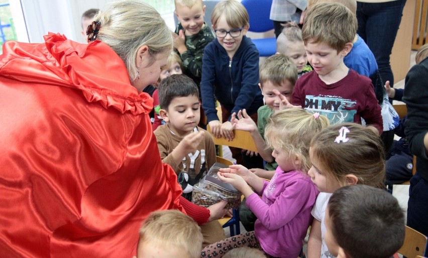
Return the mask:
M 389 63 L 389 56 L 405 4 L 406 0 L 377 4 L 357 2 L 357 33 L 376 57 L 383 82 L 389 80 L 391 87 L 394 85 L 394 75 Z

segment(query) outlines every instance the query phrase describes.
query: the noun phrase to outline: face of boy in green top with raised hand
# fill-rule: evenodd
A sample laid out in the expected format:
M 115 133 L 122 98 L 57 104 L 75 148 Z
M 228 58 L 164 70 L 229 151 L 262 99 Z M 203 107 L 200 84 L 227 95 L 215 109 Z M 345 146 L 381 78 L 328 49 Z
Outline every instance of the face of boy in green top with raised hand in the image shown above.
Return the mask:
M 279 110 L 279 103 L 281 102 L 273 90 L 278 90 L 291 103 L 293 88 L 294 85 L 289 80 L 284 80 L 280 85 L 273 84 L 272 81 L 268 80 L 263 83 L 263 87 L 260 86 L 265 103 L 272 110 Z

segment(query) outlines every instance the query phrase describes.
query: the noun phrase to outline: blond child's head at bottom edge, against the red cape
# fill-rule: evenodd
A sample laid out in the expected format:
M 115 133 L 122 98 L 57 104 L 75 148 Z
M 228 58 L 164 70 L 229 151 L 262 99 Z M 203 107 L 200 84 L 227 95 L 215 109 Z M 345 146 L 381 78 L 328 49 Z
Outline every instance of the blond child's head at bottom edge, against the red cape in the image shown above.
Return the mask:
M 200 256 L 202 234 L 196 222 L 178 210 L 152 212 L 140 229 L 137 258 Z

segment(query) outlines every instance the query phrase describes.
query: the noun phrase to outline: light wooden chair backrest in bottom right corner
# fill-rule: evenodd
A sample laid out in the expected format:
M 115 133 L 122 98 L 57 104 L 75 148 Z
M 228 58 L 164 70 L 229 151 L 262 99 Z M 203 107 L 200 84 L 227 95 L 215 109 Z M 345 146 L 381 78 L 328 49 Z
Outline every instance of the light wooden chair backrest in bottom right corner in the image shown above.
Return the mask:
M 398 250 L 398 253 L 406 257 L 426 256 L 426 243 L 427 238 L 425 235 L 406 226 L 404 243 Z

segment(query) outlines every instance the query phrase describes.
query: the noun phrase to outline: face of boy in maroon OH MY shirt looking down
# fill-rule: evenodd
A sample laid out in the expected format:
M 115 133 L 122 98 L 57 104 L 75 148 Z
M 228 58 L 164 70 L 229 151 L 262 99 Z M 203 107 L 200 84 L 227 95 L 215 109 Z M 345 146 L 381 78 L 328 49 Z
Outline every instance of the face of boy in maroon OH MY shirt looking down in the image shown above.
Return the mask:
M 344 65 L 343 51 L 339 52 L 326 43 L 310 43 L 305 45 L 307 60 L 319 76 L 334 75 Z

